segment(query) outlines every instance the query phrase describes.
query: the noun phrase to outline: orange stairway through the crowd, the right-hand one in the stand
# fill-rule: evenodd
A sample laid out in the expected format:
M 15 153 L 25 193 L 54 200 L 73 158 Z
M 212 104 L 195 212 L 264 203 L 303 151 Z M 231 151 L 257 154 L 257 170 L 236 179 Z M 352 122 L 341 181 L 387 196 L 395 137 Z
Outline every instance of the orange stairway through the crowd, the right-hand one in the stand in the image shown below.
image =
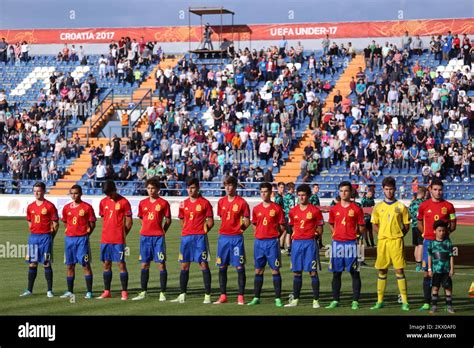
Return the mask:
M 341 95 L 347 97 L 351 93 L 349 83 L 352 77 L 355 77 L 359 71 L 359 67 L 364 67 L 364 56 L 357 55 L 351 60 L 346 70 L 343 72 L 341 77 L 336 83 L 336 86 L 332 89 L 331 93 L 327 96 L 324 110 L 333 110 L 334 102 L 333 98 L 336 95 L 336 91 L 340 90 Z M 280 169 L 280 172 L 275 175 L 275 181 L 279 182 L 296 182 L 298 176 L 301 174 L 300 164 L 303 160 L 304 148 L 307 145 L 313 146 L 313 136 L 311 130 L 307 129 L 303 133 L 303 137 L 300 140 L 298 146 L 290 153 L 288 161 Z

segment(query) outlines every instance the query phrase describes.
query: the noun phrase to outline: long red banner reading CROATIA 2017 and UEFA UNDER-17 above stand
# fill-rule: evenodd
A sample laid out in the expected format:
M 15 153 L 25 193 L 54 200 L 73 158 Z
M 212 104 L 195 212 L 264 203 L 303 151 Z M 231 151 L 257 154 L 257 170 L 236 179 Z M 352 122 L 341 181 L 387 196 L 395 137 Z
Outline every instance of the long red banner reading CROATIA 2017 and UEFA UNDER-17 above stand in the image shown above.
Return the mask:
M 214 26 L 215 28 L 218 26 Z M 474 34 L 474 18 L 466 19 L 420 19 L 409 21 L 350 22 L 350 23 L 300 23 L 300 24 L 256 24 L 249 25 L 252 33 L 234 34 L 234 39 L 289 40 L 330 38 L 397 37 L 405 31 L 410 35 L 446 35 L 448 31 L 458 34 Z M 64 43 L 108 43 L 121 37 L 158 42 L 199 42 L 201 28 L 188 27 L 143 27 L 143 28 L 95 28 L 95 29 L 37 29 L 0 30 L 0 37 L 7 42 L 27 41 L 31 44 Z M 231 38 L 231 34 L 224 37 Z M 217 40 L 217 34 L 213 35 Z

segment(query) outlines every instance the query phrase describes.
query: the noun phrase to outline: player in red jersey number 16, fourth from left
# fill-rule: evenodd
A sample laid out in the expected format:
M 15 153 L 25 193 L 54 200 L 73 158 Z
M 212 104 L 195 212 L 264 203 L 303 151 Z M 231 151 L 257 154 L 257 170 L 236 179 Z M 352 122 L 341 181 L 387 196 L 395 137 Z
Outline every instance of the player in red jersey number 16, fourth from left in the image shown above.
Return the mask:
M 160 302 L 166 301 L 166 285 L 168 272 L 166 270 L 165 234 L 171 225 L 170 204 L 159 196 L 160 181 L 151 178 L 146 181 L 148 198 L 140 201 L 138 217 L 142 220 L 140 230 L 140 260 L 142 262 L 141 285 L 142 291 L 132 300 L 143 300 L 148 289 L 150 262 L 154 260 L 160 269 Z

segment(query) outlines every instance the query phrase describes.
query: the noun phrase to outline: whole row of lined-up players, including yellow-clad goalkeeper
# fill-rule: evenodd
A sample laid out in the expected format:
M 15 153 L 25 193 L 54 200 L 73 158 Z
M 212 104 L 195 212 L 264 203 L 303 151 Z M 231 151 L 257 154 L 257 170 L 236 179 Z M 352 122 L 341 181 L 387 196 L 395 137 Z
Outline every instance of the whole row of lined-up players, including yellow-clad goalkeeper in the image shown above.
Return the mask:
M 147 180 L 148 197 L 140 201 L 138 217 L 142 221 L 140 230 L 140 259 L 142 291 L 133 300 L 143 300 L 147 296 L 149 268 L 153 260 L 160 270 L 160 301 L 166 301 L 167 270 L 165 234 L 171 225 L 169 203 L 159 196 L 160 182 L 156 178 Z M 226 195 L 217 205 L 217 215 L 221 218 L 217 246 L 216 264 L 219 267 L 220 297 L 214 302 L 222 304 L 227 299 L 227 269 L 236 268 L 238 274 L 239 305 L 245 304 L 246 286 L 245 248 L 243 233 L 250 224 L 254 227 L 254 298 L 248 305 L 258 305 L 264 280 L 265 266 L 268 264 L 275 290 L 275 305 L 283 307 L 281 300 L 282 279 L 280 275 L 281 252 L 279 238 L 287 230 L 285 214 L 281 206 L 271 200 L 272 185 L 260 185 L 262 202 L 254 207 L 252 215 L 244 198 L 237 195 L 237 180 L 227 177 L 224 180 Z M 377 259 L 375 268 L 379 270 L 377 280 L 377 303 L 372 309 L 384 306 L 384 291 L 387 272 L 390 264 L 396 273 L 398 288 L 402 298 L 402 310 L 409 310 L 407 284 L 404 275 L 405 258 L 403 237 L 409 230 L 410 218 L 407 207 L 395 199 L 395 179 L 387 177 L 382 183 L 384 200 L 378 203 L 373 211 L 371 222 L 378 233 Z M 27 262 L 28 288 L 20 296 L 32 294 L 37 275 L 38 264 L 44 265 L 47 280 L 47 296 L 53 297 L 52 247 L 53 239 L 59 228 L 59 217 L 56 207 L 45 199 L 45 185 L 38 182 L 34 185 L 35 202 L 27 209 L 27 220 L 30 230 L 28 240 L 30 255 Z M 451 277 L 454 274 L 452 244 L 448 234 L 456 229 L 456 215 L 451 203 L 443 200 L 443 183 L 433 181 L 431 199 L 420 205 L 418 228 L 423 232 L 423 266 L 424 302 L 422 309 L 436 310 L 438 289 L 442 285 L 446 292 L 448 308 L 452 310 Z M 102 187 L 106 195 L 100 202 L 99 214 L 103 218 L 100 260 L 103 262 L 104 291 L 97 299 L 112 297 L 112 263 L 118 264 L 122 285 L 121 299 L 128 299 L 128 271 L 125 262 L 125 239 L 133 224 L 132 209 L 129 201 L 117 193 L 113 181 L 106 181 Z M 211 302 L 211 272 L 209 269 L 210 251 L 208 232 L 214 225 L 213 210 L 210 202 L 199 193 L 199 181 L 190 179 L 187 182 L 189 197 L 181 202 L 178 218 L 181 222 L 181 245 L 179 262 L 180 295 L 172 302 L 186 301 L 189 268 L 192 262 L 198 263 L 202 271 L 205 296 L 203 303 Z M 358 239 L 365 232 L 364 213 L 362 208 L 351 201 L 352 186 L 350 182 L 339 184 L 340 201 L 329 211 L 329 226 L 332 233 L 329 271 L 333 274 L 332 302 L 326 307 L 333 309 L 340 305 L 342 272 L 350 273 L 352 278 L 353 301 L 351 308 L 359 308 L 361 278 L 359 268 Z M 288 224 L 292 226 L 291 269 L 293 271 L 293 293 L 287 307 L 299 303 L 302 289 L 302 274 L 308 272 L 313 291 L 313 308 L 319 308 L 319 277 L 321 269 L 318 241 L 323 234 L 324 220 L 320 209 L 309 202 L 311 189 L 308 185 L 298 186 L 296 190 L 299 204 L 291 208 Z M 68 291 L 63 298 L 74 296 L 75 265 L 84 268 L 87 286 L 85 298 L 93 298 L 93 275 L 90 267 L 91 251 L 89 236 L 95 228 L 96 217 L 92 206 L 81 200 L 82 189 L 73 185 L 70 189 L 72 202 L 65 205 L 62 221 L 65 230 L 65 263 L 67 265 Z M 251 218 L 252 216 L 252 218 Z M 34 252 L 31 252 L 34 251 Z M 432 289 L 433 287 L 433 289 Z M 432 307 L 430 308 L 430 302 Z

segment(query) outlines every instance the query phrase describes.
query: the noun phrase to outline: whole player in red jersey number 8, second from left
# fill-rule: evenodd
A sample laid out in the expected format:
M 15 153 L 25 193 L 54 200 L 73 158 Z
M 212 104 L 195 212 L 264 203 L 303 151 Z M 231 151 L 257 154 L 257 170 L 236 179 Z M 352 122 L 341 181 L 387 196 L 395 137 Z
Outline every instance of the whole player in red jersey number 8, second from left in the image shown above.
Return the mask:
M 95 229 L 96 217 L 89 203 L 83 202 L 82 187 L 73 185 L 69 189 L 72 202 L 63 208 L 62 220 L 66 225 L 64 238 L 64 258 L 67 266 L 67 291 L 62 298 L 69 298 L 74 293 L 76 263 L 84 268 L 87 293 L 85 298 L 92 298 L 92 269 L 89 236 Z

